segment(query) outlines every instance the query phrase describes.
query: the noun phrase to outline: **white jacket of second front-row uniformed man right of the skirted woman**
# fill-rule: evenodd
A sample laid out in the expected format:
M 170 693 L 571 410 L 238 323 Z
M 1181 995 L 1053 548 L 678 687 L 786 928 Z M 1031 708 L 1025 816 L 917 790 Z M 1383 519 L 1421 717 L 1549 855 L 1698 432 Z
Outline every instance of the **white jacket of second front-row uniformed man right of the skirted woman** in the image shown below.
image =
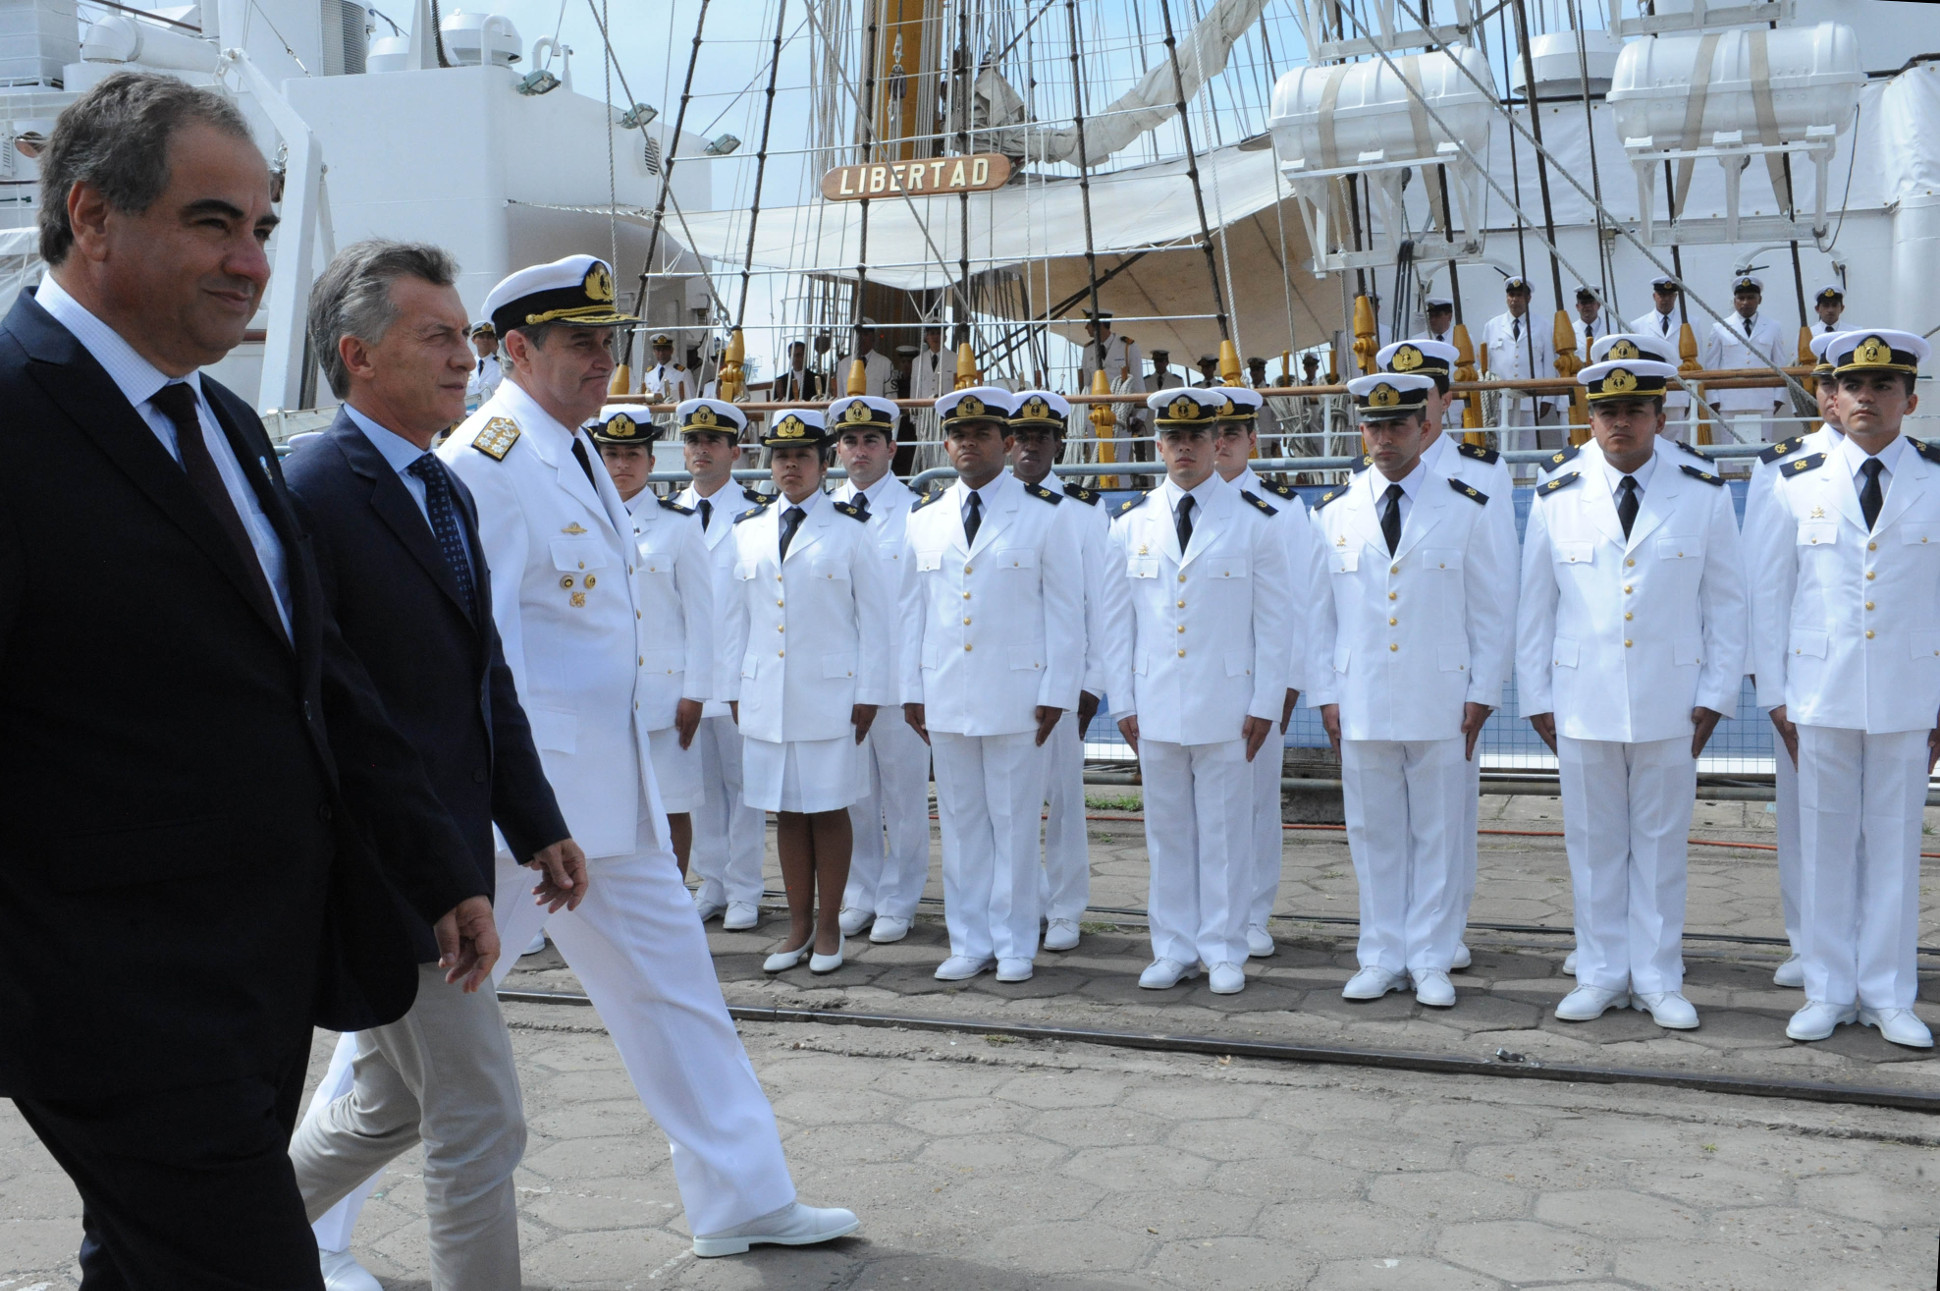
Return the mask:
M 1180 497 L 1166 480 L 1112 518 L 1112 720 L 1135 712 L 1141 740 L 1224 744 L 1249 716 L 1280 720 L 1294 580 L 1265 499 L 1249 503 L 1212 476 L 1193 491 L 1193 538 L 1181 553 Z

